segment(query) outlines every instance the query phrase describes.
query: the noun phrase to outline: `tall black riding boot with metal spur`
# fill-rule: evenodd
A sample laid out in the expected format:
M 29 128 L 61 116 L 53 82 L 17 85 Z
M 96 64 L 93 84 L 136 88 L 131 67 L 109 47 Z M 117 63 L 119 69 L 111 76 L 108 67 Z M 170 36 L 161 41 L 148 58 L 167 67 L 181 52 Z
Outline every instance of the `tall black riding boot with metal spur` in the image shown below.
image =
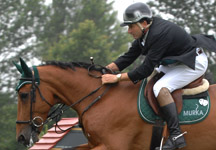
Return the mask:
M 170 103 L 166 106 L 161 107 L 164 119 L 167 122 L 169 130 L 169 138 L 163 145 L 163 150 L 175 150 L 186 146 L 186 142 L 181 129 L 179 127 L 178 113 L 175 103 Z M 159 150 L 157 147 L 155 150 Z

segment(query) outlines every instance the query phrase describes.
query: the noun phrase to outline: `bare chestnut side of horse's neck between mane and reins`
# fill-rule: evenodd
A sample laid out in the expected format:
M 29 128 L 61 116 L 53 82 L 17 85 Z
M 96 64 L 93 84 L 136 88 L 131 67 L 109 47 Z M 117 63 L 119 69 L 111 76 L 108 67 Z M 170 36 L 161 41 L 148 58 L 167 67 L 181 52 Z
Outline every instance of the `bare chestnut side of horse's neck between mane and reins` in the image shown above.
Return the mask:
M 76 68 L 74 71 L 50 66 L 40 74 L 41 80 L 48 84 L 53 95 L 67 105 L 75 103 L 101 85 L 100 79 L 90 77 L 84 68 Z

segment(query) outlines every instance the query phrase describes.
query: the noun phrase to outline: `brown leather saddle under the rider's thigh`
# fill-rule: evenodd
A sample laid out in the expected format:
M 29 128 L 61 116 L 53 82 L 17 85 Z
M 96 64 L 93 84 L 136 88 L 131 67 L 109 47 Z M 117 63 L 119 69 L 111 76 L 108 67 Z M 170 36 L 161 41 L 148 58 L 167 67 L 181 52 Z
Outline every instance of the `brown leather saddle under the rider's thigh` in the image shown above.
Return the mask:
M 153 93 L 153 86 L 154 84 L 164 75 L 164 73 L 158 73 L 156 75 L 154 75 L 147 83 L 145 91 L 144 91 L 144 96 L 147 98 L 147 101 L 149 103 L 149 105 L 152 107 L 153 111 L 155 112 L 156 115 L 161 116 L 160 114 L 160 107 L 159 104 L 157 102 L 156 97 L 154 96 Z M 181 112 L 182 110 L 182 106 L 183 106 L 183 93 L 184 93 L 184 89 L 191 89 L 191 88 L 196 88 L 198 86 L 203 85 L 203 79 L 204 76 L 201 76 L 200 78 L 196 79 L 195 81 L 191 82 L 190 84 L 188 84 L 187 86 L 183 87 L 182 89 L 177 89 L 175 91 L 173 91 L 171 93 L 174 102 L 176 104 L 177 107 L 177 111 L 178 113 Z

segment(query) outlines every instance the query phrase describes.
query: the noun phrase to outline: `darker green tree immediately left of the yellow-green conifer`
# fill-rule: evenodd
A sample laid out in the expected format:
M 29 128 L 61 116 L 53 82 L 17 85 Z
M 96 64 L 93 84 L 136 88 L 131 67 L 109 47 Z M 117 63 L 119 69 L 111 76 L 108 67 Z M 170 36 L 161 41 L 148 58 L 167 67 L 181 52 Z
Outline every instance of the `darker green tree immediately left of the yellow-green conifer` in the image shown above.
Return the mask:
M 75 11 L 80 7 L 80 0 L 53 0 L 46 8 L 46 22 L 43 32 L 38 33 L 36 56 L 47 58 L 48 49 L 60 40 L 60 36 L 67 35 L 74 28 Z

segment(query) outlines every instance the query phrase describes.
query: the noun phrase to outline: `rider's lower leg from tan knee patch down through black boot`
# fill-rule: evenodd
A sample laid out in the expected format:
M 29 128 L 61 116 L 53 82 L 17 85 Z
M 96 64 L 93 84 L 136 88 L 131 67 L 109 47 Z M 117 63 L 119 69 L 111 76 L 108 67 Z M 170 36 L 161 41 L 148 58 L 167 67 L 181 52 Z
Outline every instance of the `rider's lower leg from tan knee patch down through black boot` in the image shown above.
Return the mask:
M 170 133 L 168 140 L 163 146 L 163 150 L 174 150 L 185 147 L 186 142 L 183 135 L 181 135 L 176 105 L 169 90 L 167 88 L 162 88 L 157 100 Z M 156 148 L 156 150 L 159 150 L 159 147 Z

